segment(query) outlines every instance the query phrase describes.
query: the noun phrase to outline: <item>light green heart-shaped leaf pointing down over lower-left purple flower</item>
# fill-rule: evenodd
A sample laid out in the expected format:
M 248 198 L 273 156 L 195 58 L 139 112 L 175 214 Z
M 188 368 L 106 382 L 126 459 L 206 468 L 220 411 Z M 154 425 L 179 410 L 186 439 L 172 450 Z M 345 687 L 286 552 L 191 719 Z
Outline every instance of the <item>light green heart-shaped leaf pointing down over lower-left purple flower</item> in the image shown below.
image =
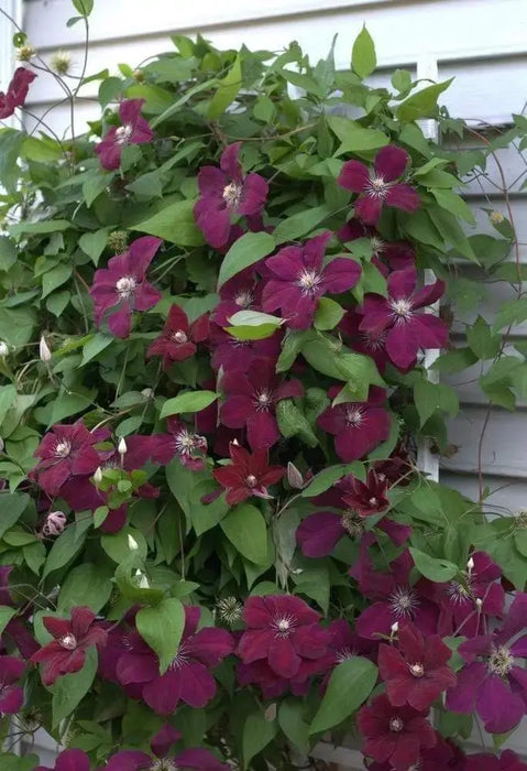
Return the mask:
M 167 597 L 154 607 L 139 610 L 135 625 L 143 640 L 157 653 L 160 674 L 164 674 L 182 640 L 185 608 L 175 597 Z

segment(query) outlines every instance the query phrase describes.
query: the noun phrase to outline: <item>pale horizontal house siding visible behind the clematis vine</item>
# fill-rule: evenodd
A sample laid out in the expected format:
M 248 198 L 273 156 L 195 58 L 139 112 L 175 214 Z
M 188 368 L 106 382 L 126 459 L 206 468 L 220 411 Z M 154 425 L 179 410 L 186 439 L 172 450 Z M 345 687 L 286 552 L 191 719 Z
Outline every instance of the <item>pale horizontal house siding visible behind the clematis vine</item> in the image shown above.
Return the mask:
M 7 2 L 8 0 L 0 0 Z M 70 0 L 26 0 L 25 30 L 44 58 L 57 48 L 69 52 L 74 73 L 83 62 L 81 24 L 66 28 L 75 14 Z M 315 59 L 325 56 L 336 32 L 338 66 L 347 66 L 351 44 L 366 22 L 377 48 L 380 80 L 396 67 L 415 69 L 418 63 L 435 59 L 439 78 L 455 76 L 443 102 L 454 117 L 481 123 L 501 124 L 512 112 L 521 112 L 527 98 L 527 0 L 96 0 L 90 18 L 91 46 L 88 73 L 105 67 L 114 70 L 125 62 L 138 65 L 149 56 L 171 50 L 169 35 L 197 32 L 220 47 L 279 50 L 297 40 Z M 83 91 L 78 123 L 99 113 L 94 101 L 96 86 Z M 61 98 L 51 77 L 40 75 L 30 94 L 31 110 L 42 115 Z M 51 110 L 47 120 L 57 132 L 68 126 L 65 106 Z M 30 123 L 31 128 L 31 123 Z M 503 153 L 506 175 L 518 173 L 518 156 Z M 497 170 L 492 170 L 494 181 Z M 491 182 L 472 184 L 466 195 L 480 227 L 486 229 L 482 206 L 505 211 L 503 199 Z M 513 211 L 523 242 L 520 257 L 527 261 L 527 194 L 516 192 Z M 491 314 L 505 300 L 504 291 L 491 293 L 480 308 Z M 462 325 L 457 334 L 463 335 Z M 527 327 L 513 330 L 527 334 Z M 459 383 L 462 409 L 451 425 L 451 441 L 459 453 L 442 461 L 442 480 L 470 496 L 477 493 L 476 458 L 486 405 L 465 372 Z M 485 484 L 496 490 L 488 509 L 516 511 L 527 508 L 527 403 L 517 413 L 493 409 L 482 444 Z M 517 731 L 508 746 L 527 751 L 527 731 Z M 334 756 L 337 762 L 362 768 L 360 757 Z

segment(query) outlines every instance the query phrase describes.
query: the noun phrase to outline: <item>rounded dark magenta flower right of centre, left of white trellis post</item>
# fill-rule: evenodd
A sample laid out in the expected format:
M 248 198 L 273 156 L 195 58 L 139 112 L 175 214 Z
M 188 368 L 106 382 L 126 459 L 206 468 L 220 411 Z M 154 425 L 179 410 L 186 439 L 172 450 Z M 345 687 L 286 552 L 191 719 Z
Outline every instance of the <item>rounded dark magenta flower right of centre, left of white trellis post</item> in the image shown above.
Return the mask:
M 328 391 L 330 399 L 339 393 L 338 386 Z M 386 402 L 386 391 L 372 386 L 367 402 L 344 402 L 328 406 L 317 423 L 328 434 L 334 435 L 337 455 L 344 463 L 363 458 L 388 438 L 392 425 L 389 413 L 381 404 Z

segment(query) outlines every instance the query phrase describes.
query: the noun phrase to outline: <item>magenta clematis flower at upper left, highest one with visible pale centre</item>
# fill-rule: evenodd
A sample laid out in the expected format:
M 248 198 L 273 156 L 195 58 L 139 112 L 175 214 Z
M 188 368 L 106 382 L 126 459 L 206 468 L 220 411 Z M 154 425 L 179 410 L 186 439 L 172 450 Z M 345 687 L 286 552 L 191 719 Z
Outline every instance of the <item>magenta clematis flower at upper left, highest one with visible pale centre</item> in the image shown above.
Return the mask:
M 123 148 L 128 144 L 144 144 L 153 140 L 154 132 L 141 116 L 143 105 L 144 99 L 127 99 L 121 102 L 119 118 L 122 126 L 112 127 L 95 149 L 102 169 L 119 169 Z

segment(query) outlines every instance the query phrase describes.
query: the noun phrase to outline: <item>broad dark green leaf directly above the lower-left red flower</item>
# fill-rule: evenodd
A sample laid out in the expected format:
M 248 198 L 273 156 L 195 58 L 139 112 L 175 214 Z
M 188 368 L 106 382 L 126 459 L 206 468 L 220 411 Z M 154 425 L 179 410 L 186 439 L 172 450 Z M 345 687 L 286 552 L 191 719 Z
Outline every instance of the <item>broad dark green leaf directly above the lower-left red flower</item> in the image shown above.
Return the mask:
M 113 571 L 108 565 L 85 563 L 68 571 L 58 595 L 58 610 L 69 612 L 72 608 L 87 605 L 95 613 L 110 599 Z

